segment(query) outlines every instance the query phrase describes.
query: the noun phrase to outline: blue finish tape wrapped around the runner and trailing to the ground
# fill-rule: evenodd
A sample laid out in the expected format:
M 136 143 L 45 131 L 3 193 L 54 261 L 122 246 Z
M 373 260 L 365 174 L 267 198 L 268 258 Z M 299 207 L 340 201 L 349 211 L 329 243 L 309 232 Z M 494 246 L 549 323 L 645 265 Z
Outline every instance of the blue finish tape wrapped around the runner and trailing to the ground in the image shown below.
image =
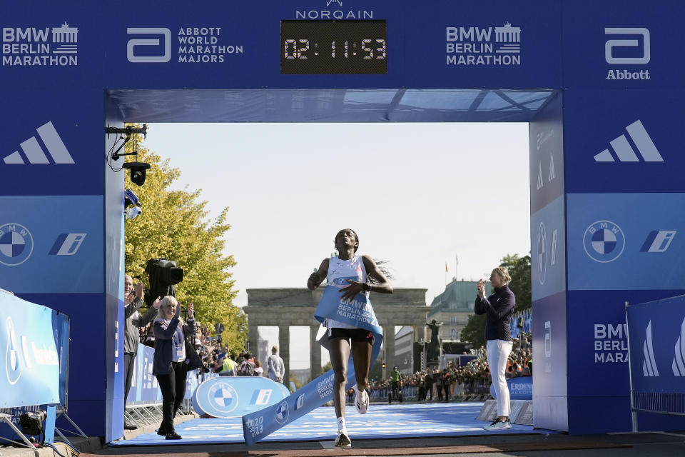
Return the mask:
M 359 294 L 352 301 L 342 301 L 340 299 L 340 288 L 342 287 L 326 286 L 314 317 L 321 323 L 326 318 L 332 318 L 336 321 L 372 331 L 371 365 L 373 366 L 380 352 L 380 345 L 383 339 L 382 328 L 378 325 L 378 320 L 369 299 L 365 295 Z M 325 336 L 321 344 L 325 347 L 327 343 L 328 339 Z M 243 416 L 245 444 L 248 446 L 253 445 L 270 433 L 313 411 L 323 403 L 333 400 L 334 376 L 333 370 L 329 370 L 280 403 Z M 347 364 L 347 386 L 345 388 L 349 388 L 355 383 L 357 381 L 355 380 L 354 364 L 350 360 Z M 333 420 L 332 415 L 331 421 Z

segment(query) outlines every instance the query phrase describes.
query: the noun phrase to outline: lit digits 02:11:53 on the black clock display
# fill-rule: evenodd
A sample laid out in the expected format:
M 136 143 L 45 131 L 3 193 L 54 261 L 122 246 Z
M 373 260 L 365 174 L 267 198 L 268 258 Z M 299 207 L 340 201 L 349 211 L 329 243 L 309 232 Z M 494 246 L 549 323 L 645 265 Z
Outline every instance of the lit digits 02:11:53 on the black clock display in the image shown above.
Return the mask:
M 330 59 L 384 60 L 387 56 L 387 45 L 385 39 L 380 38 L 362 39 L 358 43 L 356 41 L 330 41 L 321 46 L 319 43 L 310 43 L 308 39 L 286 39 L 283 43 L 285 60 L 316 59 L 324 52 L 330 53 Z

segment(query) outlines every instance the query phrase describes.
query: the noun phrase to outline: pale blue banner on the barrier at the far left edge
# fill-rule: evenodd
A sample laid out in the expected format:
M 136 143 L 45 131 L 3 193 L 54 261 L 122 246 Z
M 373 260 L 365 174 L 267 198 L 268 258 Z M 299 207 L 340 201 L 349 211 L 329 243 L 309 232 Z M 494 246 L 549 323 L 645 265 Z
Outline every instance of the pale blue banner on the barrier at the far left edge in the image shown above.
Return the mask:
M 0 408 L 64 405 L 67 350 L 64 314 L 0 291 Z

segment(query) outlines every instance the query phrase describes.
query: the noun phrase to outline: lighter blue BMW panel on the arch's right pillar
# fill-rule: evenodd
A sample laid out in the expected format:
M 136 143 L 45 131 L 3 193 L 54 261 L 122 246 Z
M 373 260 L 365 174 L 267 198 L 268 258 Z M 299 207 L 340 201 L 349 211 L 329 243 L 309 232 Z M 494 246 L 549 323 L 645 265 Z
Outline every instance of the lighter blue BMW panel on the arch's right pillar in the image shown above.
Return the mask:
M 569 194 L 569 290 L 684 289 L 685 194 Z

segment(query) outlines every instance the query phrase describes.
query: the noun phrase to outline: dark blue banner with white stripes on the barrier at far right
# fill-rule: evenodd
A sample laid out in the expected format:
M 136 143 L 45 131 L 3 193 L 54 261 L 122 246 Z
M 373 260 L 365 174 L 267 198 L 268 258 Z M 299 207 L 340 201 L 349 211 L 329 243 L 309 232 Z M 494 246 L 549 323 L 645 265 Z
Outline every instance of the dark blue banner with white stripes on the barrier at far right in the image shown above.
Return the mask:
M 628 306 L 626 317 L 633 392 L 685 394 L 685 296 Z

